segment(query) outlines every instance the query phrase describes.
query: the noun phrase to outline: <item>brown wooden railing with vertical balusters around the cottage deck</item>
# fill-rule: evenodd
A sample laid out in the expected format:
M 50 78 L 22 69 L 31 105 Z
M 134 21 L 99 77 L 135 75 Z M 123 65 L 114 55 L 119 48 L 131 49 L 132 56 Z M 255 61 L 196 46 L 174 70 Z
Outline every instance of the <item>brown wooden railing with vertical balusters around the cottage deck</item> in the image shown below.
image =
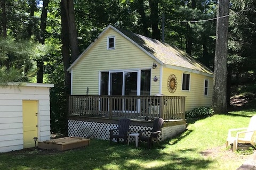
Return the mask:
M 185 96 L 69 96 L 69 115 L 185 119 Z

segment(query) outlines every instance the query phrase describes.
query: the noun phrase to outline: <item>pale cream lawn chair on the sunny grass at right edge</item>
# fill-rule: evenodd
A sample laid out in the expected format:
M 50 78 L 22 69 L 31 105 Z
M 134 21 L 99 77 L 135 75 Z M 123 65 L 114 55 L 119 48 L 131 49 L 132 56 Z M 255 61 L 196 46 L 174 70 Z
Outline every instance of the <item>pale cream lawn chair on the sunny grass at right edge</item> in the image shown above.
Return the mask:
M 244 131 L 241 131 L 244 130 Z M 236 137 L 231 136 L 232 131 L 240 131 L 236 133 Z M 228 147 L 231 143 L 233 143 L 233 151 L 237 150 L 238 143 L 250 143 L 254 148 L 255 143 L 253 142 L 253 134 L 256 131 L 256 115 L 251 117 L 248 128 L 237 128 L 237 129 L 229 129 L 228 130 L 228 138 L 226 147 Z M 244 138 L 239 137 L 239 135 L 243 134 Z

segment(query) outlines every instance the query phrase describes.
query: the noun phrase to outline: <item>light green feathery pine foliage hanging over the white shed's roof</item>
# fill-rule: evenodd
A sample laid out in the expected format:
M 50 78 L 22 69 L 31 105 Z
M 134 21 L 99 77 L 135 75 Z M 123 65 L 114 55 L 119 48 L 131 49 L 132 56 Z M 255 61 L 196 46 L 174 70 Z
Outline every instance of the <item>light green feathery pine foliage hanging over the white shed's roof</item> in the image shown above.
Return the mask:
M 36 74 L 36 60 L 51 47 L 34 41 L 0 38 L 0 83 L 27 82 Z

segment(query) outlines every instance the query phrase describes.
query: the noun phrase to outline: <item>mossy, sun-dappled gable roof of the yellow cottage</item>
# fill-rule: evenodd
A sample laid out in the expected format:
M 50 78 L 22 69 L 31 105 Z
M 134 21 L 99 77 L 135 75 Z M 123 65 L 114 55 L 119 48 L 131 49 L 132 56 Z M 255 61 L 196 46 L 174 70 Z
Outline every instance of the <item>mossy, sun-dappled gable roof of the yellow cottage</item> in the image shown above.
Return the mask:
M 169 66 L 177 66 L 183 67 L 187 69 L 192 69 L 196 71 L 200 71 L 203 73 L 213 74 L 213 72 L 204 66 L 202 63 L 196 61 L 193 57 L 189 56 L 187 53 L 183 52 L 181 49 L 175 46 L 171 46 L 166 43 L 162 43 L 159 40 L 152 39 L 149 37 L 145 37 L 139 35 L 137 33 L 133 33 L 127 30 L 115 28 L 112 25 L 108 25 L 108 27 L 103 30 L 97 39 L 97 41 L 103 33 L 106 32 L 108 29 L 114 29 L 116 32 L 120 33 L 124 38 L 130 40 L 134 45 L 138 46 L 144 52 L 146 52 L 149 56 L 156 59 L 162 65 L 169 65 Z M 78 58 L 77 60 L 68 68 L 68 71 L 71 70 L 71 67 L 79 61 L 79 58 L 86 53 L 86 51 L 94 44 L 92 43 Z

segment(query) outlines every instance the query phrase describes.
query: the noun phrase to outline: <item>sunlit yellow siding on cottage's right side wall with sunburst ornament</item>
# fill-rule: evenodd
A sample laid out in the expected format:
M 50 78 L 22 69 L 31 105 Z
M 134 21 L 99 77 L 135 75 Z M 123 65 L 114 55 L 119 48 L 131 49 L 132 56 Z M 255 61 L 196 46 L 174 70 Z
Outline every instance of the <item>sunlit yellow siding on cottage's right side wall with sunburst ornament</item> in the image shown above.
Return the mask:
M 183 73 L 190 74 L 190 90 L 182 90 L 182 75 Z M 174 74 L 177 77 L 177 89 L 174 93 L 170 93 L 167 89 L 167 80 L 170 74 Z M 209 82 L 208 95 L 204 95 L 204 81 L 207 79 Z M 167 96 L 186 96 L 186 111 L 189 111 L 195 107 L 206 106 L 211 107 L 212 101 L 212 89 L 213 78 L 207 77 L 202 74 L 183 72 L 179 70 L 163 69 L 163 83 L 162 94 Z

